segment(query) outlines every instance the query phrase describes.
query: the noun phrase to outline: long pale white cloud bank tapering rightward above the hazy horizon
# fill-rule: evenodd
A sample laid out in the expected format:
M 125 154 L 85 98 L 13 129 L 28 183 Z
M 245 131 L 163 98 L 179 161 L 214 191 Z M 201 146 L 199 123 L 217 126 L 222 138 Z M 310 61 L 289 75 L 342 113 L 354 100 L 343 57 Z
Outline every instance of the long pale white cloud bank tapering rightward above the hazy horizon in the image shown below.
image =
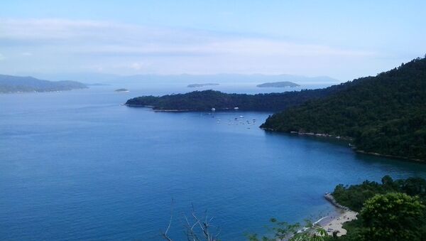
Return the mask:
M 312 70 L 320 70 L 325 64 L 339 63 L 345 58 L 377 55 L 365 50 L 295 43 L 268 36 L 108 21 L 0 19 L 0 33 L 0 47 L 8 50 L 8 55 L 14 51 L 23 57 L 36 54 L 40 59 L 33 60 L 37 61 L 32 63 L 33 68 L 68 72 L 71 70 L 67 68 L 78 71 L 78 68 L 97 66 L 97 70 L 117 73 L 128 70 L 136 73 L 297 73 L 306 71 L 306 63 L 317 62 Z M 13 66 L 18 66 L 16 61 Z

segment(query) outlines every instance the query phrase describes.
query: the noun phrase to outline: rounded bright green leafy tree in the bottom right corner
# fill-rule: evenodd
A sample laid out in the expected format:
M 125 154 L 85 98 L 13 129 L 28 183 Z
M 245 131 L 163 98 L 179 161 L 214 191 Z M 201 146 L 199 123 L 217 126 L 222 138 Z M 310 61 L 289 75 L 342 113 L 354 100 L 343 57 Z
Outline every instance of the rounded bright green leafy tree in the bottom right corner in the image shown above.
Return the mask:
M 420 199 L 405 193 L 378 194 L 361 210 L 366 240 L 421 240 L 424 215 Z

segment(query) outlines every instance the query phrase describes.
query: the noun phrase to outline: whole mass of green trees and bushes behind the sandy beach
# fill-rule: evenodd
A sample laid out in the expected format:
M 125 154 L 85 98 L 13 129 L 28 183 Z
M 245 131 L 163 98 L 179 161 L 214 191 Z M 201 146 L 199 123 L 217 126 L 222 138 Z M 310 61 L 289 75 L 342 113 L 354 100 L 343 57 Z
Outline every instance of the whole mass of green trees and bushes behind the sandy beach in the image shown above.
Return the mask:
M 425 240 L 426 180 L 408 178 L 382 183 L 337 186 L 334 198 L 359 212 L 358 220 L 344 224 L 347 235 L 338 240 Z

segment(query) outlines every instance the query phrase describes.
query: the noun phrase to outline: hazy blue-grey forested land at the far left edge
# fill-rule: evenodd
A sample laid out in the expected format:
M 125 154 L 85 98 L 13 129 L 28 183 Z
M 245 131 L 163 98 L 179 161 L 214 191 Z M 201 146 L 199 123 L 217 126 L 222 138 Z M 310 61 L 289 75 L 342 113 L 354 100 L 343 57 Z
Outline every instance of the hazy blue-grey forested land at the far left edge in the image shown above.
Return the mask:
M 71 80 L 49 81 L 29 76 L 0 75 L 0 93 L 49 92 L 84 88 L 87 88 L 87 85 Z

